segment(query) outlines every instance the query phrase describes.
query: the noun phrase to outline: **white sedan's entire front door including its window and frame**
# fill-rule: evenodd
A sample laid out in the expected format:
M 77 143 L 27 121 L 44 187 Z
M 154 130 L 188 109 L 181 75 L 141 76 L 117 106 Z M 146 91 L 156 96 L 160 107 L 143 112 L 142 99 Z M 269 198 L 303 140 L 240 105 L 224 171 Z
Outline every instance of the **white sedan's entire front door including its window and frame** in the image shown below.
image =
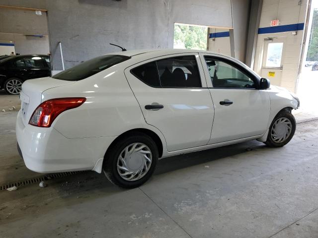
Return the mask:
M 215 110 L 209 144 L 263 134 L 268 124 L 270 99 L 265 90 L 253 89 L 257 87 L 255 75 L 247 74 L 243 65 L 226 57 L 202 54 L 200 59 L 205 64 L 204 73 Z

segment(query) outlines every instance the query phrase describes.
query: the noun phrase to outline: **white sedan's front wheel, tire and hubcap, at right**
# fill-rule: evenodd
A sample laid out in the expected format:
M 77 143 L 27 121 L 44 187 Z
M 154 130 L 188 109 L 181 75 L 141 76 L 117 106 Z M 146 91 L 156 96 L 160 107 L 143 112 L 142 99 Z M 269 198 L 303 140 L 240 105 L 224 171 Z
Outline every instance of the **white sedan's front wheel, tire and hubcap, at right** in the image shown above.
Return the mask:
M 295 130 L 296 120 L 292 113 L 281 111 L 273 119 L 264 143 L 270 147 L 282 147 L 293 138 Z

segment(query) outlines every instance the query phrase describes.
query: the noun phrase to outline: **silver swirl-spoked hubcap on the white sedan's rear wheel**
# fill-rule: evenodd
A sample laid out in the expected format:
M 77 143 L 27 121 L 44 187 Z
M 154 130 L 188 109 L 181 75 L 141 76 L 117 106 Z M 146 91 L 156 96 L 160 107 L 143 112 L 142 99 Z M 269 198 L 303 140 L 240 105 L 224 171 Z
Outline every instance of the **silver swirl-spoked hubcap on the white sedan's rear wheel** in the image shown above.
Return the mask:
M 151 150 L 143 143 L 128 145 L 117 160 L 117 171 L 121 178 L 135 181 L 143 178 L 153 161 Z

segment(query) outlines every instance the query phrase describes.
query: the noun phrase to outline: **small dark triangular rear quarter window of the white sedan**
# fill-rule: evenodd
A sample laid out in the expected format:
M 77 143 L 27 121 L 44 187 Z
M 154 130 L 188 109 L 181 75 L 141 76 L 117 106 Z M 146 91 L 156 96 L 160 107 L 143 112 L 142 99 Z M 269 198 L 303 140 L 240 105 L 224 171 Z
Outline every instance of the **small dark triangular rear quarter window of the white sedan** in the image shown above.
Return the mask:
M 156 62 L 143 64 L 131 72 L 149 86 L 160 87 Z

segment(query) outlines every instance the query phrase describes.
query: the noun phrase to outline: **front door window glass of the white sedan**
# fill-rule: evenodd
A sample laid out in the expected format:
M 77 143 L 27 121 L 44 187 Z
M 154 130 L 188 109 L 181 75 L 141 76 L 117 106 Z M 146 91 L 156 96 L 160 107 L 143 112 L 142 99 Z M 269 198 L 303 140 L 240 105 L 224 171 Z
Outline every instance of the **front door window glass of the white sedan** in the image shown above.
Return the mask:
M 256 88 L 254 81 L 238 68 L 205 56 L 214 88 Z

